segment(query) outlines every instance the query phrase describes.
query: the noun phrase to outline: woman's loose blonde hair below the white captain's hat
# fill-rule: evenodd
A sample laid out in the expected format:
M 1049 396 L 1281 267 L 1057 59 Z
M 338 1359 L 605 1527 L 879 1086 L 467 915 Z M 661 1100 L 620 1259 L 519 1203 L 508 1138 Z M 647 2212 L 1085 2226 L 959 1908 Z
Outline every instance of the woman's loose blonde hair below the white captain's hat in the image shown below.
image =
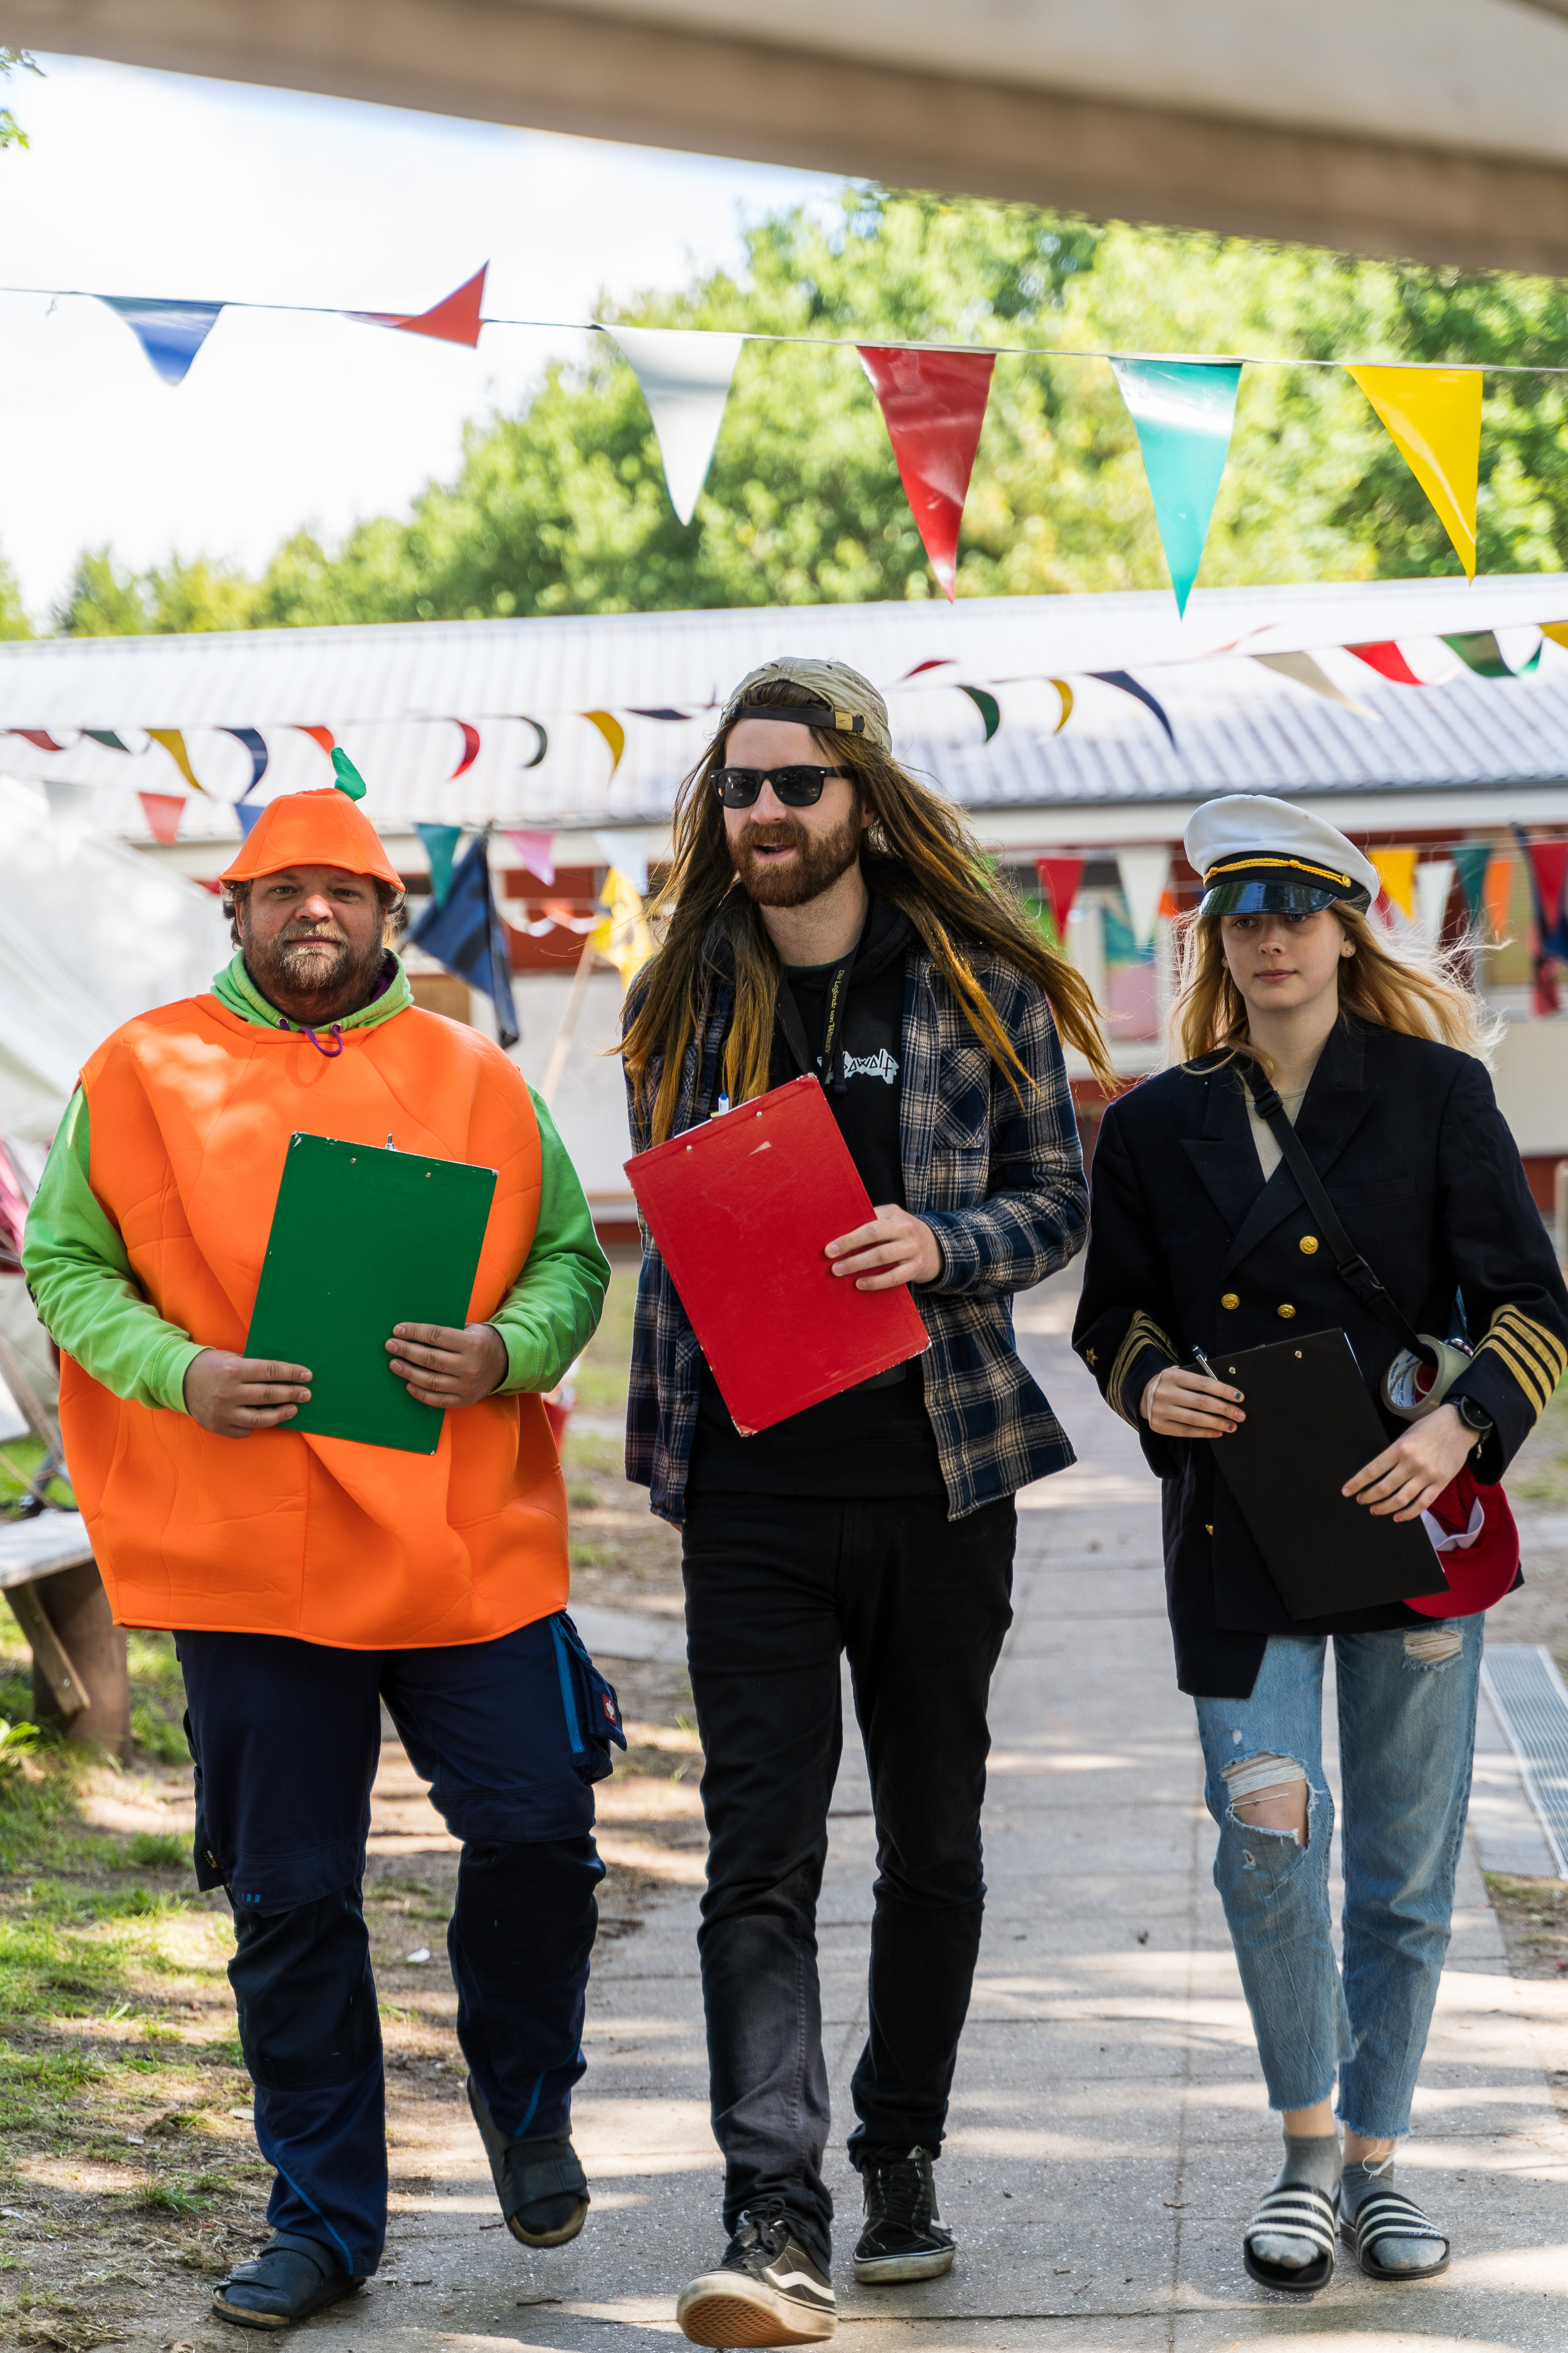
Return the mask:
M 1356 951 L 1340 958 L 1340 1012 L 1406 1038 L 1434 1038 L 1490 1064 L 1497 1024 L 1481 1014 L 1467 979 L 1479 941 L 1462 939 L 1441 951 L 1401 941 L 1394 948 L 1356 908 L 1335 904 L 1331 913 Z M 1220 1049 L 1251 1054 L 1272 1078 L 1269 1056 L 1248 1035 L 1246 1000 L 1229 976 L 1220 922 L 1220 915 L 1187 915 L 1180 927 L 1171 1052 L 1175 1061 Z

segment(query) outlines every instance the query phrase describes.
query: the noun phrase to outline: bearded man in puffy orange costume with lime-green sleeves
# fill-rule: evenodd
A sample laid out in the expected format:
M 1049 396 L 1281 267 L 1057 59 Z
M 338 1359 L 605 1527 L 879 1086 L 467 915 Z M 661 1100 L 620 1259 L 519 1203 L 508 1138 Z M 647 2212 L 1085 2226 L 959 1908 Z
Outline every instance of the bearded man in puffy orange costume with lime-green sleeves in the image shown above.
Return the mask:
M 214 2313 L 287 2327 L 378 2264 L 381 2028 L 360 1882 L 381 1701 L 463 1840 L 449 1929 L 468 2097 L 512 2233 L 557 2245 L 595 1937 L 592 1781 L 621 1739 L 567 1602 L 541 1391 L 609 1266 L 550 1115 L 480 1033 L 421 1012 L 386 946 L 402 885 L 341 788 L 256 821 L 223 882 L 237 955 L 127 1021 L 54 1139 L 26 1275 L 61 1346 L 75 1494 L 115 1617 L 174 1628 L 195 1861 L 235 1911 L 230 1979 L 277 2169 L 273 2240 Z M 310 1367 L 244 1358 L 289 1134 L 498 1172 L 463 1329 L 397 1325 L 435 1454 L 289 1431 Z M 322 1254 L 331 1235 L 322 1233 Z

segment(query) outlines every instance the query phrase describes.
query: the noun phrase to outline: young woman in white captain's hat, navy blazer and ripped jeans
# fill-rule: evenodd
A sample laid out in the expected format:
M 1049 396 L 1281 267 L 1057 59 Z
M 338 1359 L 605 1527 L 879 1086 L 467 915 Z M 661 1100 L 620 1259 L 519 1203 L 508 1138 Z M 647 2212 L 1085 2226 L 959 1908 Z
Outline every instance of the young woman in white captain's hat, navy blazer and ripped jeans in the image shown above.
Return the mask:
M 1286 2158 L 1244 2235 L 1248 2273 L 1309 2294 L 1342 2240 L 1371 2278 L 1427 2278 L 1448 2240 L 1394 2191 L 1469 1798 L 1481 1617 L 1401 1602 L 1286 1612 L 1215 1447 L 1244 1391 L 1197 1358 L 1340 1327 L 1378 1400 L 1399 1341 L 1340 1278 L 1244 1082 L 1276 1087 L 1352 1242 L 1418 1332 L 1474 1348 L 1443 1402 L 1345 1487 L 1413 1520 L 1469 1464 L 1493 1485 L 1568 1367 L 1568 1294 L 1493 1101 L 1474 1000 L 1396 955 L 1366 911 L 1378 873 L 1276 800 L 1211 800 L 1187 826 L 1204 901 L 1173 1009 L 1180 1064 L 1105 1115 L 1074 1348 L 1164 1480 L 1178 1680 L 1197 1699 L 1215 1885 Z M 1328 1920 L 1321 1765 L 1335 1645 L 1345 1955 Z M 1333 2089 L 1338 2078 L 1335 2132 Z

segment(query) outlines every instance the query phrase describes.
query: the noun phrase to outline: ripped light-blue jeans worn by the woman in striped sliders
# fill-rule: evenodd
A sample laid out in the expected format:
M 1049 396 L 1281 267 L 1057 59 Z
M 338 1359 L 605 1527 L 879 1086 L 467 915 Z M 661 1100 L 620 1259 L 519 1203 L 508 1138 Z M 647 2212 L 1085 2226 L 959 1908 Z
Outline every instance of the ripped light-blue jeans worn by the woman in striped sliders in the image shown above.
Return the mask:
M 1269 1635 L 1251 1699 L 1199 1699 L 1213 1882 L 1225 1904 L 1272 2108 L 1312 2108 L 1340 2078 L 1340 2122 L 1410 2129 L 1448 1951 L 1469 1805 L 1483 1617 L 1382 1633 Z M 1446 1645 L 1458 1647 L 1441 1657 Z M 1333 1798 L 1324 1779 L 1324 1649 L 1333 1640 L 1345 1795 L 1345 1960 L 1328 1918 Z M 1253 1760 L 1265 1760 L 1253 1769 Z M 1227 1767 L 1232 1777 L 1227 1779 Z M 1237 1819 L 1262 1781 L 1307 1779 L 1307 1845 Z

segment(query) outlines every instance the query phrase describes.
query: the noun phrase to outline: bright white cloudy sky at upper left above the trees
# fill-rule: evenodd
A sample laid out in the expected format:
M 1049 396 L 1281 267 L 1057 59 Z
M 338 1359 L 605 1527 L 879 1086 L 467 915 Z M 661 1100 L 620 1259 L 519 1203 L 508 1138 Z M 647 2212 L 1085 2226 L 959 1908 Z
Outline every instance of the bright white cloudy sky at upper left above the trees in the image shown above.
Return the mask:
M 0 285 L 423 311 L 482 264 L 484 308 L 590 318 L 743 256 L 741 224 L 830 207 L 811 172 L 665 155 L 343 99 L 40 56 L 5 99 Z M 515 407 L 574 334 L 477 351 L 228 311 L 179 388 L 99 301 L 0 294 L 0 548 L 35 616 L 82 546 L 259 567 L 454 468 L 463 419 Z

